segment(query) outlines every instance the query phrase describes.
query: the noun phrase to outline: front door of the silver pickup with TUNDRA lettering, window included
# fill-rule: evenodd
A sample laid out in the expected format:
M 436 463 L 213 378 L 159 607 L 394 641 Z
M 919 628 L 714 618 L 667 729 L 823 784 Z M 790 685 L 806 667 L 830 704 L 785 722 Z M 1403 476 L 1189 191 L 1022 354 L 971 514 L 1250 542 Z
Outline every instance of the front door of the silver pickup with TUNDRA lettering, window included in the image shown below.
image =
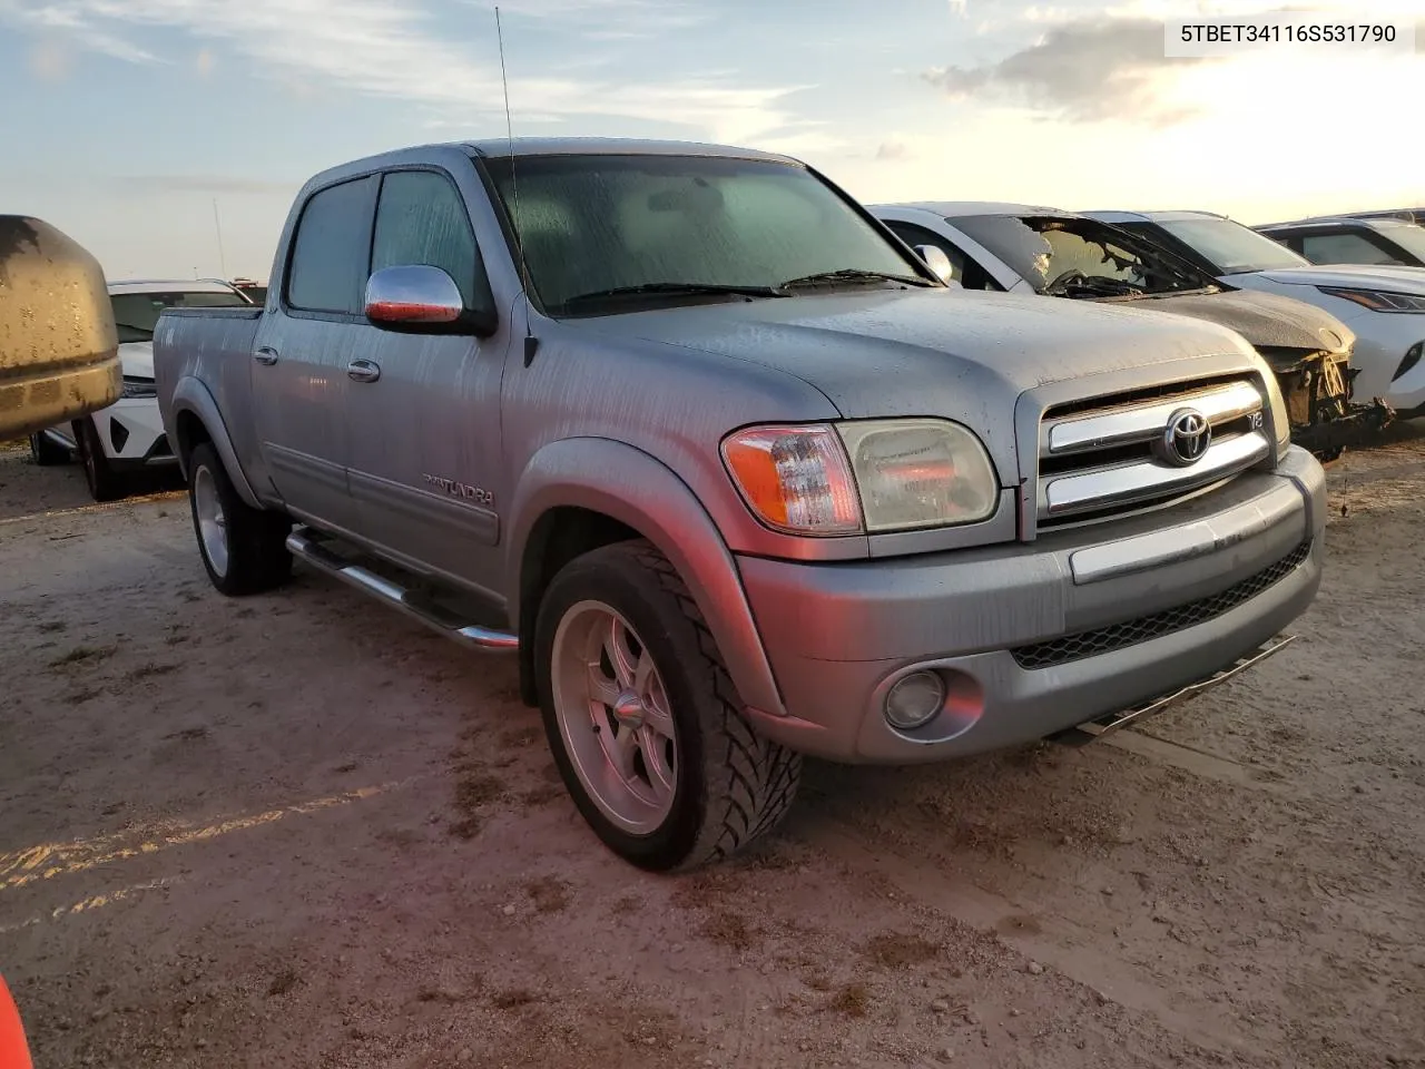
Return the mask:
M 372 271 L 408 265 L 443 268 L 470 302 L 483 264 L 443 171 L 382 177 Z M 493 480 L 507 328 L 483 339 L 365 329 L 363 361 L 346 386 L 362 534 L 423 572 L 500 592 Z

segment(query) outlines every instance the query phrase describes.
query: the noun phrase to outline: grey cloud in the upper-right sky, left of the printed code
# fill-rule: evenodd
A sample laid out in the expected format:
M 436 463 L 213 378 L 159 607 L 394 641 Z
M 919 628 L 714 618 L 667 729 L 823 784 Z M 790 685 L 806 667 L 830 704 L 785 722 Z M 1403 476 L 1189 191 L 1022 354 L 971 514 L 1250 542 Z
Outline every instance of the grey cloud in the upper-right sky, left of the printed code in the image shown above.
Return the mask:
M 1029 9 L 1026 17 L 1030 13 L 1045 21 L 1059 14 Z M 1173 73 L 1198 63 L 1208 60 L 1163 56 L 1160 20 L 1097 17 L 1053 24 L 1037 43 L 999 63 L 936 67 L 922 77 L 955 98 L 1016 100 L 1076 121 L 1120 118 L 1163 127 L 1196 114 L 1166 105 L 1161 90 Z

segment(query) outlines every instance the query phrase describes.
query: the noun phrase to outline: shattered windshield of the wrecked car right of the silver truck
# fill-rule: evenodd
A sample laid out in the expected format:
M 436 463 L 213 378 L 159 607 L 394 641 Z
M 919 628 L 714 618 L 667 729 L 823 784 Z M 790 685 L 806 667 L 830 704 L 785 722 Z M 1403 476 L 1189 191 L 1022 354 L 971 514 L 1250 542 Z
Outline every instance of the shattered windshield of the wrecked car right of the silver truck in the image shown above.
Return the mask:
M 1096 220 L 1063 215 L 965 215 L 952 227 L 1052 296 L 1136 296 L 1213 284 L 1188 264 Z

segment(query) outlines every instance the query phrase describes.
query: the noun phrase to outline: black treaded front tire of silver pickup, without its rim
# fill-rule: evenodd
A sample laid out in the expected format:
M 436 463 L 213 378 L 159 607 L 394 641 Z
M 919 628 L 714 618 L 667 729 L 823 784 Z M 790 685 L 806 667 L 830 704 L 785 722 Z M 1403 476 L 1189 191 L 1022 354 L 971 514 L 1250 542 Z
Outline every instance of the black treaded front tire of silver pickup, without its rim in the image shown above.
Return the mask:
M 637 631 L 663 680 L 677 731 L 673 805 L 646 835 L 616 825 L 579 778 L 553 700 L 554 636 L 581 601 L 617 610 Z M 624 542 L 573 560 L 550 583 L 534 629 L 534 671 L 544 733 L 564 785 L 600 840 L 650 871 L 727 858 L 781 822 L 801 780 L 799 754 L 758 735 L 687 586 L 650 543 Z

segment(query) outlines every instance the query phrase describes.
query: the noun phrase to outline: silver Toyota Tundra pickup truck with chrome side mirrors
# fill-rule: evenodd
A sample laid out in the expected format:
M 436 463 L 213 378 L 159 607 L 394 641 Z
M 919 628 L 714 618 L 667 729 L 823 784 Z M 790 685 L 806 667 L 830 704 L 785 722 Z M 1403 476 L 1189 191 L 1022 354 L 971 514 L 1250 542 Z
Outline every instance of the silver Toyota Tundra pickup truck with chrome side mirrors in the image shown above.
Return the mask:
M 1324 477 L 1261 356 L 942 268 L 734 148 L 326 171 L 265 306 L 158 321 L 208 574 L 296 557 L 517 654 L 580 811 L 650 869 L 774 827 L 802 754 L 1086 741 L 1290 641 Z

